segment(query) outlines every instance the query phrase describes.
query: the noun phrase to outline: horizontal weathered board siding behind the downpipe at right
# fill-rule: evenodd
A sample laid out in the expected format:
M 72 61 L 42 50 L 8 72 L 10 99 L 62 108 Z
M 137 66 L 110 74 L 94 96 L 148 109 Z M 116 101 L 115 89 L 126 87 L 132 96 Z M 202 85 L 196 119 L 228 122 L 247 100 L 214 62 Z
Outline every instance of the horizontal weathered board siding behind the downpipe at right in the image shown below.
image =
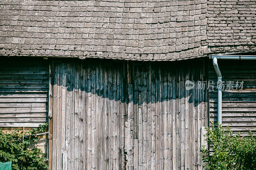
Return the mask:
M 255 131 L 256 128 L 256 62 L 252 60 L 218 60 L 222 81 L 225 87 L 229 81 L 244 81 L 243 89 L 224 89 L 222 91 L 222 125 L 234 132 Z M 209 82 L 217 82 L 212 66 L 208 66 Z M 238 83 L 240 85 L 240 83 Z M 216 84 L 215 84 L 216 87 Z M 210 121 L 217 122 L 217 89 L 209 88 Z

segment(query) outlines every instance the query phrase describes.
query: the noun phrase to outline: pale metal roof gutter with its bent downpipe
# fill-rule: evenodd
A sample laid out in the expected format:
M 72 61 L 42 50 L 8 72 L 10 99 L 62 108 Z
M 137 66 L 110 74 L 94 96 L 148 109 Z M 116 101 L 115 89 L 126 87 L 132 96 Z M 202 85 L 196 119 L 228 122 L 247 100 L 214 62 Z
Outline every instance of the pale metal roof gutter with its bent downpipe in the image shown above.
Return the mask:
M 256 60 L 255 55 L 210 55 L 209 59 L 212 59 L 212 64 L 215 72 L 218 76 L 218 123 L 222 123 L 222 75 L 218 66 L 217 59 L 229 59 L 229 60 Z

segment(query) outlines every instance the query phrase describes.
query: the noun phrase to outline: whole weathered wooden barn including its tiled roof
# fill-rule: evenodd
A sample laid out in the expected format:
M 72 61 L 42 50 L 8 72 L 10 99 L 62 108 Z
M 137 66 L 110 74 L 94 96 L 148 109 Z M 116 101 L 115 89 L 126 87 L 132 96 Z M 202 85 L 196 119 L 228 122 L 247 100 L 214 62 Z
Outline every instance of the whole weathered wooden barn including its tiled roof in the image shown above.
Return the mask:
M 52 170 L 202 170 L 211 121 L 255 132 L 255 8 L 1 1 L 0 127 L 48 122 Z

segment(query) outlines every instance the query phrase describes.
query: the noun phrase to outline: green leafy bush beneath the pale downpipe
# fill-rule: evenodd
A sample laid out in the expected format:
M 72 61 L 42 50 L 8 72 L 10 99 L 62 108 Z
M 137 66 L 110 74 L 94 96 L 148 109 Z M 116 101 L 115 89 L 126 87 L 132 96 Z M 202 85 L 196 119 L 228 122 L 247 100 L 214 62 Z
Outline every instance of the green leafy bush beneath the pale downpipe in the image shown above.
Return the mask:
M 211 146 L 203 146 L 202 159 L 206 170 L 256 170 L 256 142 L 252 132 L 241 137 L 240 133 L 232 135 L 232 131 L 221 125 L 212 129 L 206 127 L 206 140 Z

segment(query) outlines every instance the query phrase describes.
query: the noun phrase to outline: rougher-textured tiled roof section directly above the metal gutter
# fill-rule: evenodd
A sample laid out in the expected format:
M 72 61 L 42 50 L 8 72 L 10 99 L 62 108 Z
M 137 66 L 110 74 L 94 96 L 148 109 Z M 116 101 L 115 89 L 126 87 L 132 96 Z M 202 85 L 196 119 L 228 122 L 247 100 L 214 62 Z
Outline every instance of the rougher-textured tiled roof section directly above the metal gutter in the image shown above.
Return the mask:
M 207 43 L 213 53 L 256 50 L 256 1 L 208 0 Z

